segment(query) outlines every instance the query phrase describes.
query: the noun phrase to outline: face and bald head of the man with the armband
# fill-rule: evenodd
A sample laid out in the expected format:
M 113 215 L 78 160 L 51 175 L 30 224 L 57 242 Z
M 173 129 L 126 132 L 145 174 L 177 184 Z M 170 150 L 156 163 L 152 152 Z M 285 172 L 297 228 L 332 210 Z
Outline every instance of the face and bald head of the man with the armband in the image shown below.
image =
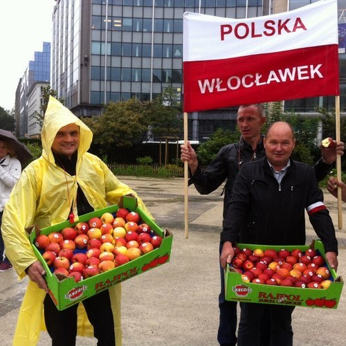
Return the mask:
M 264 138 L 266 157 L 276 170 L 281 170 L 289 161 L 294 145 L 291 127 L 284 122 L 274 124 Z

